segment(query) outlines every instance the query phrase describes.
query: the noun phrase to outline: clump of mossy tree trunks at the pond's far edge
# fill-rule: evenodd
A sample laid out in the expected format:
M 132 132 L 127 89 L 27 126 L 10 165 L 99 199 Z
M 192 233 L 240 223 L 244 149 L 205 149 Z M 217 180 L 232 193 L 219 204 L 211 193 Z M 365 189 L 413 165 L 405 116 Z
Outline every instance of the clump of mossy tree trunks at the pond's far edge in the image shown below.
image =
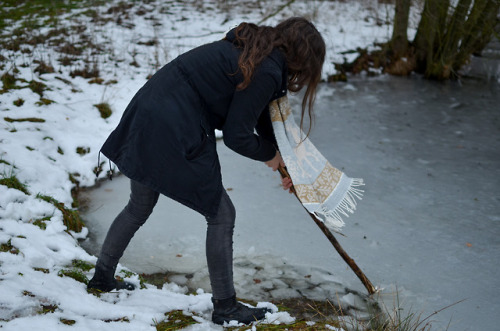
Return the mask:
M 411 0 L 395 0 L 391 40 L 375 56 L 382 59 L 384 72 L 390 74 L 407 75 L 415 71 L 426 78 L 458 77 L 459 69 L 472 54 L 483 50 L 495 27 L 500 27 L 500 0 L 424 1 L 410 48 L 407 28 Z M 450 2 L 456 6 L 450 6 Z

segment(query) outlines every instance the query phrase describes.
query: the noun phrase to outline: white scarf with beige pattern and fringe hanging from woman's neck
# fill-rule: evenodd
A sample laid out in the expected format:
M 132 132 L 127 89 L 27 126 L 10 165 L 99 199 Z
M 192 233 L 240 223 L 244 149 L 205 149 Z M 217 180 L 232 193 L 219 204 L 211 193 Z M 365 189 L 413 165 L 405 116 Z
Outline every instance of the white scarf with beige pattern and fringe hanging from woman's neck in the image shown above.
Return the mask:
M 272 101 L 269 111 L 281 157 L 293 182 L 295 193 L 309 213 L 330 230 L 339 232 L 342 216 L 349 216 L 361 200 L 364 185 L 360 178 L 349 178 L 314 147 L 297 126 L 286 96 Z

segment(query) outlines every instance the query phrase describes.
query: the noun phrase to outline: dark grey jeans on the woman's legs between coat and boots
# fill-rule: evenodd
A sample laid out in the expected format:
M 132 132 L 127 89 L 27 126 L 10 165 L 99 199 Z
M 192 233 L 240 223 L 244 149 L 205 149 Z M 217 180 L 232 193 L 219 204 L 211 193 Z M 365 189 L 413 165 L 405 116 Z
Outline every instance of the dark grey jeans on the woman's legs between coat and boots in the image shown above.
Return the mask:
M 97 261 L 98 266 L 116 268 L 135 232 L 146 222 L 158 201 L 158 192 L 134 180 L 130 183 L 130 200 L 108 230 Z M 235 294 L 233 284 L 235 218 L 233 203 L 226 190 L 222 190 L 217 216 L 206 218 L 206 255 L 214 299 L 227 299 Z

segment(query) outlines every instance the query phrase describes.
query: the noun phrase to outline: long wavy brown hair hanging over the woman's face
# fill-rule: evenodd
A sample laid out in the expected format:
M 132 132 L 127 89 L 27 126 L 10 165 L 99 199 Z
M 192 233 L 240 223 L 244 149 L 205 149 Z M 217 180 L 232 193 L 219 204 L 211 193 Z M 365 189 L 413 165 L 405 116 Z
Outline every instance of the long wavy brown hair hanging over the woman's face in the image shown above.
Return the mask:
M 242 48 L 238 67 L 243 81 L 237 86 L 245 89 L 251 82 L 256 67 L 278 48 L 288 66 L 288 90 L 298 92 L 307 86 L 302 99 L 300 127 L 307 113 L 312 123 L 316 87 L 321 80 L 325 61 L 325 41 L 316 27 L 303 17 L 289 18 L 275 27 L 241 23 L 235 30 L 235 44 Z M 309 125 L 308 135 L 311 131 Z

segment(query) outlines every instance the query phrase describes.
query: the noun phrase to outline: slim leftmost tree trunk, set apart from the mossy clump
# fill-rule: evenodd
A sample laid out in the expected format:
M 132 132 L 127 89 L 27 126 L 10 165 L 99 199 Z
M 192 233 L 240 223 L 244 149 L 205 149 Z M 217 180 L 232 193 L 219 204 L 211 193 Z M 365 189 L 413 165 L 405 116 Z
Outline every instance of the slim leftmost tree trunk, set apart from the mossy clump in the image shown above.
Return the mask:
M 394 27 L 392 30 L 391 49 L 393 57 L 398 59 L 408 52 L 408 18 L 411 0 L 396 0 Z

